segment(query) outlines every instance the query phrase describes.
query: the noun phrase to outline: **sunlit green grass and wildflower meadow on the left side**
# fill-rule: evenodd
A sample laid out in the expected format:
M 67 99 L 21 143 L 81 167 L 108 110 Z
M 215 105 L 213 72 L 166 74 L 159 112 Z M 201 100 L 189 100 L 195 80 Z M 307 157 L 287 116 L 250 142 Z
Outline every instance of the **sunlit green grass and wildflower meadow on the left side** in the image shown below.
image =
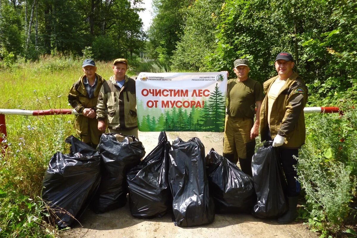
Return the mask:
M 130 62 L 130 61 L 129 61 Z M 83 74 L 82 59 L 43 57 L 39 62 L 0 71 L 0 108 L 46 110 L 68 108 L 72 84 Z M 96 62 L 97 73 L 109 79 L 111 62 Z M 135 75 L 132 68 L 127 74 Z M 9 145 L 0 155 L 0 237 L 56 237 L 43 221 L 42 178 L 55 152 L 69 152 L 67 136 L 76 135 L 73 115 L 5 115 Z M 0 135 L 2 136 L 2 135 Z

